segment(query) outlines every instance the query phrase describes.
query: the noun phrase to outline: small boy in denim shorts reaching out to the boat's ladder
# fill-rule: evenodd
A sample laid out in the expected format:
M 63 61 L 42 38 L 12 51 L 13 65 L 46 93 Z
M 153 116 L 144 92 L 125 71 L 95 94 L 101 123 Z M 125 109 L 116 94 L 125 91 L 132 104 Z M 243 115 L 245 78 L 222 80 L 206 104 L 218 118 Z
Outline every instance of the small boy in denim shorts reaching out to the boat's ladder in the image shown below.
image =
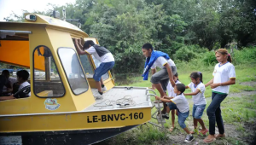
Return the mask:
M 181 128 L 188 134 L 184 142 L 192 142 L 194 140 L 194 136 L 189 132 L 188 127 L 185 125 L 185 120 L 189 117 L 189 102 L 183 96 L 183 92 L 186 90 L 186 86 L 184 84 L 176 84 L 174 87 L 174 93 L 177 94 L 175 98 L 164 99 L 159 96 L 155 96 L 156 100 L 161 100 L 162 102 L 173 102 L 177 105 L 177 122 Z M 167 108 L 170 109 L 169 106 Z

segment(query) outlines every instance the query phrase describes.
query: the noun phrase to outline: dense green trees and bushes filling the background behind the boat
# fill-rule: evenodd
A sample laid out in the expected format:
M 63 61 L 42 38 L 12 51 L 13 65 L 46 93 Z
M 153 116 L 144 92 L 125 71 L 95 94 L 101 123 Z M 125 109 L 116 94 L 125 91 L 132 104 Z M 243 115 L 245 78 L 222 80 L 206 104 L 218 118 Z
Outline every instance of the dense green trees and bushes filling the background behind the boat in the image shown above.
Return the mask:
M 81 29 L 108 47 L 116 60 L 113 72 L 119 74 L 142 73 L 141 47 L 145 43 L 153 44 L 175 61 L 204 66 L 216 63 L 214 53 L 207 49 L 224 48 L 231 42 L 236 42 L 239 49 L 256 44 L 254 0 L 77 0 L 32 13 L 50 15 L 53 9 L 61 12 L 63 7 L 67 19 L 81 20 Z M 23 18 L 12 14 L 6 20 Z M 247 51 L 248 55 L 235 51 L 234 61 L 255 60 L 255 51 Z

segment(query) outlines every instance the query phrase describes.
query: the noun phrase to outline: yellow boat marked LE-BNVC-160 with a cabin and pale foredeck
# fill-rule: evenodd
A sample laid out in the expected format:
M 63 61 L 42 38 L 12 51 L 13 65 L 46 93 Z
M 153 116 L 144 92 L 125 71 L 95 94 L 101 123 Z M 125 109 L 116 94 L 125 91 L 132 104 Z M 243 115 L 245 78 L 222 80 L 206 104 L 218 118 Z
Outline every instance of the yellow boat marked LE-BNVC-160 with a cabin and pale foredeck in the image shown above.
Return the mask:
M 79 27 L 40 14 L 27 14 L 22 23 L 0 22 L 0 61 L 28 68 L 31 84 L 30 97 L 0 102 L 0 138 L 92 144 L 151 119 L 148 89 L 114 86 L 110 72 L 103 76 L 104 98 L 95 99 L 98 62 L 79 56 L 72 38 L 99 44 Z

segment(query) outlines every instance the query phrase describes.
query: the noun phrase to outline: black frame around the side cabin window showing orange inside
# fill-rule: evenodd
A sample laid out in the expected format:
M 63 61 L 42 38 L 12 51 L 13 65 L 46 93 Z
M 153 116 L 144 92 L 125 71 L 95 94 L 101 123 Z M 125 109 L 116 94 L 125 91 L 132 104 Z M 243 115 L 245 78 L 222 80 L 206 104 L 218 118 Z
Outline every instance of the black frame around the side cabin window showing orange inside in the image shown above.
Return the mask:
M 32 53 L 32 75 L 33 75 L 33 80 L 32 80 L 32 82 L 33 82 L 33 93 L 34 93 L 34 95 L 35 96 L 38 96 L 37 95 L 37 93 L 35 93 L 35 79 L 34 79 L 34 73 L 35 73 L 35 61 L 34 61 L 34 53 L 35 53 L 35 51 L 36 51 L 36 49 L 38 49 L 38 48 L 40 48 L 40 47 L 45 47 L 45 48 L 47 48 L 47 49 L 49 49 L 49 47 L 47 47 L 47 46 L 45 46 L 45 45 L 38 45 L 34 50 L 33 50 L 33 53 Z M 51 50 L 49 49 L 49 51 L 50 51 L 50 53 L 51 53 L 51 55 L 53 54 L 52 52 L 51 52 Z M 55 63 L 55 58 L 53 57 L 53 55 L 52 55 L 52 59 L 53 59 L 53 61 L 54 61 L 54 63 Z M 63 97 L 63 96 L 65 96 L 66 95 L 66 89 L 65 89 L 65 86 L 64 86 L 64 84 L 63 84 L 63 81 L 62 81 L 62 79 L 61 79 L 61 75 L 60 75 L 60 72 L 59 72 L 59 70 L 58 70 L 58 67 L 56 66 L 56 63 L 55 63 L 55 68 L 56 68 L 56 70 L 57 70 L 57 72 L 58 72 L 58 75 L 59 75 L 59 77 L 60 77 L 60 80 L 61 80 L 61 84 L 62 84 L 62 86 L 63 86 L 63 89 L 64 89 L 64 93 L 63 93 L 63 95 L 62 96 L 38 96 L 38 98 L 59 98 L 59 97 Z

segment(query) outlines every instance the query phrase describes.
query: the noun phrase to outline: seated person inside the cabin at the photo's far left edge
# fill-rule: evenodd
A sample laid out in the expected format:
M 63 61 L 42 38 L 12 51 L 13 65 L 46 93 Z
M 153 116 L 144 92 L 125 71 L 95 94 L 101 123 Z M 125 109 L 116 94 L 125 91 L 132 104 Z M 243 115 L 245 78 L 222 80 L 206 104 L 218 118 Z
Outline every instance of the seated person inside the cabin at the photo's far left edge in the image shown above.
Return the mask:
M 13 91 L 13 84 L 17 82 L 17 79 L 9 77 L 9 70 L 3 70 L 2 75 L 7 78 L 7 84 L 3 86 L 2 96 L 10 96 Z

